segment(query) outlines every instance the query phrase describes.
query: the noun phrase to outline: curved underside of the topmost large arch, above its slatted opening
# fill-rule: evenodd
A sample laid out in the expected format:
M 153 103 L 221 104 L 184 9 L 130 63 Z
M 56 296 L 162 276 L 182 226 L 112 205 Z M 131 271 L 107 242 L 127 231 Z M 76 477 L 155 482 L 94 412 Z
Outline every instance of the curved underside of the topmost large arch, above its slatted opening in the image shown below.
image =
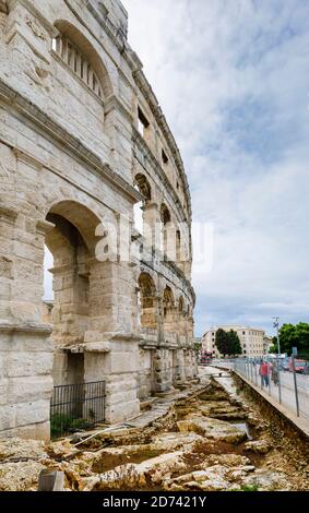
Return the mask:
M 67 20 L 57 20 L 55 22 L 55 27 L 59 32 L 58 38 L 67 38 L 80 51 L 81 56 L 83 56 L 86 62 L 91 65 L 94 75 L 97 77 L 100 84 L 103 97 L 106 99 L 110 95 L 112 95 L 112 84 L 107 72 L 106 65 L 104 64 L 102 58 L 99 57 L 93 45 L 84 36 L 84 34 L 79 31 L 75 25 L 68 22 Z M 98 96 L 100 95 L 98 94 Z

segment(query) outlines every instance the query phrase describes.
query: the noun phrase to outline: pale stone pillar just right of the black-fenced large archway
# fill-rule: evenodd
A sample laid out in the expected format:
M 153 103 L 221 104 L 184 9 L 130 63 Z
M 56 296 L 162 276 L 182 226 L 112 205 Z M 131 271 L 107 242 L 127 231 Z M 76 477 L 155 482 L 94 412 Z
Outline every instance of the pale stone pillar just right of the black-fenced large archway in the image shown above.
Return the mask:
M 140 337 L 132 333 L 132 287 L 135 282 L 128 262 L 93 260 L 90 269 L 85 381 L 106 382 L 106 421 L 111 423 L 132 418 L 140 411 Z

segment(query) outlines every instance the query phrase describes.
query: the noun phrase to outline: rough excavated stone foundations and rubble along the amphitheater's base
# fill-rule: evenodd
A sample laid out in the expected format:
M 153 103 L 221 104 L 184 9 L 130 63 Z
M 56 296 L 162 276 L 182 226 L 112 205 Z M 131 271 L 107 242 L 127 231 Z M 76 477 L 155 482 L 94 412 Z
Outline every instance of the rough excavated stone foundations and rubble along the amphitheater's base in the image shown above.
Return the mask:
M 253 401 L 210 379 L 142 428 L 76 433 L 48 446 L 1 442 L 0 489 L 35 490 L 39 470 L 52 468 L 76 491 L 308 490 L 306 453 L 283 449 L 273 432 Z

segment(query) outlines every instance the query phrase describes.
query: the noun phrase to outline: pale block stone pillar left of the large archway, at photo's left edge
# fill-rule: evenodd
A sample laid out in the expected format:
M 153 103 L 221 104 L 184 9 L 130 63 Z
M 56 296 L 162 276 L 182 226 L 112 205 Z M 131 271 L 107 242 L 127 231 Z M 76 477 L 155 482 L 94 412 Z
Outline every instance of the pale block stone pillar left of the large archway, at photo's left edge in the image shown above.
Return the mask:
M 50 437 L 51 326 L 39 322 L 47 225 L 0 212 L 0 437 Z

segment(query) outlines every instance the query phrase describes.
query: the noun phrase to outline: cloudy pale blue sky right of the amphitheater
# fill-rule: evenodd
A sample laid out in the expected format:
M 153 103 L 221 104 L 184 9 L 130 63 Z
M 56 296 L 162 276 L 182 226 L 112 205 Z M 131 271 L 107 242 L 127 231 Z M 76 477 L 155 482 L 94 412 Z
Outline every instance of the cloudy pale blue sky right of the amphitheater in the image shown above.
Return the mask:
M 197 335 L 308 322 L 309 2 L 122 2 L 209 234 Z

